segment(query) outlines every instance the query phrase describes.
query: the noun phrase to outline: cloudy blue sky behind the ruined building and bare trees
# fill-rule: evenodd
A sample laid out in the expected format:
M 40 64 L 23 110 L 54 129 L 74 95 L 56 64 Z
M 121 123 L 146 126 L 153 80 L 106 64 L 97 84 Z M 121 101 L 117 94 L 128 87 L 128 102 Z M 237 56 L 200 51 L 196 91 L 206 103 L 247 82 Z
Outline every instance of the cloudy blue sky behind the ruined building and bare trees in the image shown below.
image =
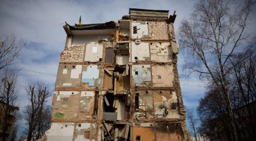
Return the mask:
M 173 14 L 176 10 L 175 30 L 177 31 L 181 20 L 192 13 L 195 2 L 191 0 L 1 0 L 0 36 L 13 33 L 17 38 L 25 39 L 28 43 L 16 60 L 20 68 L 23 68 L 19 76 L 21 111 L 25 105 L 28 105 L 26 85 L 37 80 L 54 85 L 59 55 L 66 39 L 62 27 L 65 22 L 78 23 L 80 15 L 83 24 L 105 23 L 111 20 L 117 22 L 121 16 L 129 14 L 129 8 L 169 10 L 169 14 Z M 252 23 L 256 23 L 255 18 L 251 20 Z M 255 32 L 255 28 L 253 31 Z M 205 92 L 205 82 L 199 81 L 196 76 L 190 79 L 185 77 L 182 65 L 184 60 L 189 58 L 184 56 L 185 54 L 181 52 L 178 58 L 184 105 L 188 108 L 196 108 L 198 100 Z

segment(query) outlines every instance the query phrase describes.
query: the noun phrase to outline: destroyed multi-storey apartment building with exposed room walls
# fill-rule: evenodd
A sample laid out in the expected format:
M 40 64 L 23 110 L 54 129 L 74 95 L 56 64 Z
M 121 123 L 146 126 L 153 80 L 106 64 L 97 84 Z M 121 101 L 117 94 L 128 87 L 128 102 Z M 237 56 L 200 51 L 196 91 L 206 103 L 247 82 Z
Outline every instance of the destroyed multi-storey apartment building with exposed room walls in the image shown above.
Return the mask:
M 178 47 L 167 10 L 66 23 L 47 140 L 186 140 Z

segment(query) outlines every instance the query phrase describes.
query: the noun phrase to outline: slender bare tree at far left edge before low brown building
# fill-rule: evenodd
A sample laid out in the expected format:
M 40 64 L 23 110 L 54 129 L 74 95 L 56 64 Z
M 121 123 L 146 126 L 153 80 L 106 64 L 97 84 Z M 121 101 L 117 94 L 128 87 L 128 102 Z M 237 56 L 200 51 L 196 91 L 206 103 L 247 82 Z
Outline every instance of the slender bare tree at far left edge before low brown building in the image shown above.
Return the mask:
M 9 70 L 5 71 L 0 84 L 0 131 L 2 140 L 10 139 L 8 133 L 11 132 L 16 122 L 17 107 L 17 75 Z M 11 123 L 11 124 L 10 124 Z

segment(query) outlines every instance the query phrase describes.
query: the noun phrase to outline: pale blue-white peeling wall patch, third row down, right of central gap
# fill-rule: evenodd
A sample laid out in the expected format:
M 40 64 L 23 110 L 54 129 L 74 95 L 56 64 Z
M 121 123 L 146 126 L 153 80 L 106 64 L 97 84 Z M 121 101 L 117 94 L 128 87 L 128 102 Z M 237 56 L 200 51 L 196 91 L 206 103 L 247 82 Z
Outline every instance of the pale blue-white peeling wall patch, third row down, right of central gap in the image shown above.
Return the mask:
M 133 65 L 132 66 L 133 84 L 135 86 L 150 86 L 151 71 L 150 65 Z

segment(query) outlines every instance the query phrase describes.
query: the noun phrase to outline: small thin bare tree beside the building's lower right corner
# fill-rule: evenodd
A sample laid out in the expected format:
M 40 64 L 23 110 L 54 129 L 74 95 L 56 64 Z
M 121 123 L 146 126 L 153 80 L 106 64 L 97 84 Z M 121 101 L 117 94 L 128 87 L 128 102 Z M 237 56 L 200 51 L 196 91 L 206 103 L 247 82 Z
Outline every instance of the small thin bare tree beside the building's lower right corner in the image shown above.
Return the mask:
M 189 123 L 190 134 L 197 141 L 199 120 L 196 117 L 194 117 L 192 109 L 187 109 L 187 118 L 188 118 L 188 123 Z M 200 136 L 199 136 L 199 140 L 200 140 Z

